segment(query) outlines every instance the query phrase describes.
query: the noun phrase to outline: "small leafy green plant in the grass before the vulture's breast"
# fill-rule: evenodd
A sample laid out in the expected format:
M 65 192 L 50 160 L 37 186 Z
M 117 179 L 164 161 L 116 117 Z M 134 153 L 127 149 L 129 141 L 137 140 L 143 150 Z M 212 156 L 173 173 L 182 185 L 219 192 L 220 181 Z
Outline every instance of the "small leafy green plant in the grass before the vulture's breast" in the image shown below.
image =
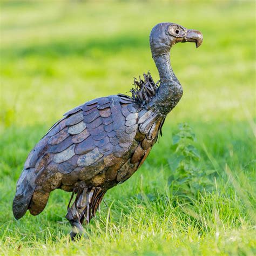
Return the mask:
M 195 146 L 196 135 L 188 124 L 179 124 L 172 139 L 173 153 L 168 159 L 172 174 L 168 183 L 173 196 L 197 199 L 199 192 L 212 190 L 214 183 L 210 174 L 215 171 L 201 166 L 200 153 Z

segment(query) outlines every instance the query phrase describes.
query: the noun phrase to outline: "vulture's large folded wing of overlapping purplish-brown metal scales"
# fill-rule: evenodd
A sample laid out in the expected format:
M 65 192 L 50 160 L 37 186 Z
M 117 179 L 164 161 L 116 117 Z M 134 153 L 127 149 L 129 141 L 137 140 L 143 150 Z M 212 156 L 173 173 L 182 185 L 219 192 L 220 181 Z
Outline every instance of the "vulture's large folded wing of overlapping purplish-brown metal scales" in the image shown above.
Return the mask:
M 65 113 L 35 146 L 25 162 L 17 192 L 31 214 L 43 211 L 49 194 L 56 188 L 72 191 L 78 180 L 90 180 L 107 167 L 120 162 L 129 152 L 138 130 L 139 105 L 127 96 L 91 100 Z M 16 197 L 17 197 L 16 192 Z M 15 208 L 14 200 L 14 208 Z

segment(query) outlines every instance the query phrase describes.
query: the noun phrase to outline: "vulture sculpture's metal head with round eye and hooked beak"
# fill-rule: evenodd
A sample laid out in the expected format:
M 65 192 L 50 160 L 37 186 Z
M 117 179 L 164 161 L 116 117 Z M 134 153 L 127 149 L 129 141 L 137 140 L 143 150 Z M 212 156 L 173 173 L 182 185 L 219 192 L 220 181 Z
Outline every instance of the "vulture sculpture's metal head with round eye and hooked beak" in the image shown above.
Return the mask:
M 168 53 L 174 44 L 185 42 L 194 42 L 198 48 L 203 43 L 203 35 L 200 31 L 167 22 L 157 24 L 150 33 L 150 48 L 153 57 Z

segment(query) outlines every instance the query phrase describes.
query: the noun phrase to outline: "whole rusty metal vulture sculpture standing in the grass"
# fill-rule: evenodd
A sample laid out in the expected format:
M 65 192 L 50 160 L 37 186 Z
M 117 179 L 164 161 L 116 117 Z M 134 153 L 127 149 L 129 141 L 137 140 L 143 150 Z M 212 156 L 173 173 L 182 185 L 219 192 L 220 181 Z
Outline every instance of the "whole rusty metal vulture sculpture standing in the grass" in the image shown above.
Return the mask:
M 144 80 L 134 80 L 132 97 L 93 99 L 65 113 L 51 127 L 25 161 L 13 202 L 16 219 L 27 210 L 41 213 L 50 192 L 60 188 L 72 192 L 66 214 L 73 227 L 71 238 L 83 232 L 83 221 L 89 223 L 95 216 L 106 191 L 143 164 L 166 115 L 183 95 L 170 65 L 170 49 L 179 42 L 199 47 L 203 35 L 174 23 L 154 26 L 150 47 L 159 86 L 150 73 L 144 74 Z

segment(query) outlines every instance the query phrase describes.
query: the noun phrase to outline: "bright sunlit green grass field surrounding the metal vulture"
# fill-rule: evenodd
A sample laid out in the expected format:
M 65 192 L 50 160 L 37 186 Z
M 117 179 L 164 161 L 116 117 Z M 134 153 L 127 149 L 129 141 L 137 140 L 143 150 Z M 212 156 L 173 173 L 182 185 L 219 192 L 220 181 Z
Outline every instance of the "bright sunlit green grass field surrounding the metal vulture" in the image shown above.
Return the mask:
M 254 2 L 1 2 L 0 254 L 255 255 Z M 204 34 L 171 62 L 184 96 L 149 158 L 107 192 L 86 238 L 71 242 L 69 193 L 16 221 L 16 181 L 29 151 L 64 112 L 130 90 L 150 70 L 149 33 L 163 21 Z M 168 185 L 172 133 L 188 123 L 212 191 L 188 203 Z

